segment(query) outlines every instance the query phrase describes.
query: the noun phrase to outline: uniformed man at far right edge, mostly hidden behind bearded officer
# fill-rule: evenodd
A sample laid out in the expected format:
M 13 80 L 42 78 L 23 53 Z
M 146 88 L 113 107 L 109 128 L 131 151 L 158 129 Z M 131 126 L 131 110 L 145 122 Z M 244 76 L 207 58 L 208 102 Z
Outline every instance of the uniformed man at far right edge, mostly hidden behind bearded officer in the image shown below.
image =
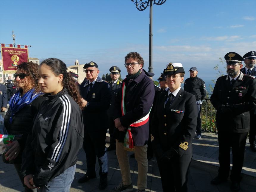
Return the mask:
M 256 51 L 250 51 L 246 53 L 244 56 L 244 63 L 245 67 L 241 69 L 243 74 L 248 74 L 256 77 Z M 256 110 L 250 111 L 250 147 L 252 151 L 256 152 L 256 125 L 255 120 L 256 118 Z

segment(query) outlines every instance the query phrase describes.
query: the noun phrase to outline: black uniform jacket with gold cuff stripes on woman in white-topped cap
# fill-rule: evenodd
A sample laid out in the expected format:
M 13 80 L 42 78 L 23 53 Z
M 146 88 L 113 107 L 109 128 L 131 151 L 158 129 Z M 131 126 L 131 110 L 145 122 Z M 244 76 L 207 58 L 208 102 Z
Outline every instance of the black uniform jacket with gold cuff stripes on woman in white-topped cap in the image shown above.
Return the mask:
M 158 154 L 174 150 L 180 157 L 183 154 L 192 154 L 192 139 L 197 122 L 196 98 L 180 89 L 166 113 L 164 103 L 167 95 L 168 92 L 163 92 L 157 98 L 152 120 L 153 149 L 157 150 Z

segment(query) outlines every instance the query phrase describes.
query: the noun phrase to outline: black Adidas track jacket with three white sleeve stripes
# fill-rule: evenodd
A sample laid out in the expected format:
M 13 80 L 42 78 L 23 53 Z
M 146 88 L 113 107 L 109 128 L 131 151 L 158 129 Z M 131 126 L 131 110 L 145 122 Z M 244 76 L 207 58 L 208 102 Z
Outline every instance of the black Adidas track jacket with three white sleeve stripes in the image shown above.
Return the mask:
M 22 176 L 33 174 L 37 187 L 76 164 L 84 135 L 82 112 L 68 91 L 64 88 L 54 96 L 45 96 L 48 100 L 34 118 L 22 154 Z

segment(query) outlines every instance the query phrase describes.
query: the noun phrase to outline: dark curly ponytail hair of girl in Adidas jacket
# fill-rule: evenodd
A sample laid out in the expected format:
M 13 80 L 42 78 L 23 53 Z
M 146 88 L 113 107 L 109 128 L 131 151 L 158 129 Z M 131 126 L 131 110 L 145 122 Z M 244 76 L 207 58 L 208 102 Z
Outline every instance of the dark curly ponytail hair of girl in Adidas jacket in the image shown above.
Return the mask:
M 56 75 L 63 74 L 62 86 L 68 90 L 68 94 L 74 99 L 75 102 L 79 105 L 80 109 L 82 109 L 82 97 L 79 93 L 79 88 L 75 84 L 75 80 L 71 77 L 70 73 L 67 72 L 66 64 L 59 59 L 49 58 L 43 60 L 40 65 L 47 65 L 50 67 L 51 71 Z

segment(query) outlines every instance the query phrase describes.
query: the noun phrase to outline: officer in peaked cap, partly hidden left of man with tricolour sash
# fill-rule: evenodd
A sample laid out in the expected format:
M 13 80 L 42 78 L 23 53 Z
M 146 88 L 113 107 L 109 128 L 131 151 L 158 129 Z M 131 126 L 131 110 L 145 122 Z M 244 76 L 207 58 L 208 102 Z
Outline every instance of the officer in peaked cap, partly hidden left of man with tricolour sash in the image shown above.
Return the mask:
M 114 101 L 117 93 L 121 88 L 121 83 L 122 83 L 119 80 L 121 70 L 118 66 L 110 67 L 109 71 L 110 71 L 110 77 L 112 79 L 112 81 L 109 82 L 111 93 L 112 93 L 112 99 L 111 99 L 110 107 L 107 111 L 108 125 L 109 125 L 108 129 L 110 134 L 110 146 L 107 148 L 107 151 L 115 150 L 115 138 L 114 138 L 115 122 L 113 120 L 113 112 L 115 110 Z

